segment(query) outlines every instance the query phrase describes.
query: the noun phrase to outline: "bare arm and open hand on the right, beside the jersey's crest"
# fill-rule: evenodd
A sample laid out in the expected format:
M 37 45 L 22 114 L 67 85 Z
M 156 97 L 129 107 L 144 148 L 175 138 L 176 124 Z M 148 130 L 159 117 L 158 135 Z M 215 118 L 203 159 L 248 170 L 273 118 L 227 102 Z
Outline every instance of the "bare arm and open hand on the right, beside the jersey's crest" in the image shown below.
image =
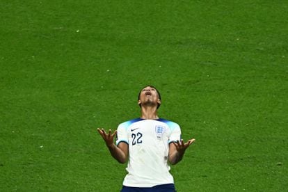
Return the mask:
M 182 160 L 185 150 L 195 141 L 195 138 L 191 138 L 187 143 L 181 141 L 175 141 L 169 144 L 169 157 L 168 161 L 175 165 Z

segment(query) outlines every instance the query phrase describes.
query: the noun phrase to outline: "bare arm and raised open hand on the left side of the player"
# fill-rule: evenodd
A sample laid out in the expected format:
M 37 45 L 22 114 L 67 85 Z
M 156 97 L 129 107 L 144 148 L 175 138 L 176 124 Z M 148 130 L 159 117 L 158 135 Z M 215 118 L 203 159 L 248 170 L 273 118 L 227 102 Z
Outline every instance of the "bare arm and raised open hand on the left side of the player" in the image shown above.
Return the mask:
M 114 144 L 114 136 L 117 133 L 117 130 L 115 130 L 113 134 L 111 134 L 111 129 L 109 129 L 108 134 L 103 128 L 98 128 L 97 130 L 105 141 L 111 156 L 114 157 L 114 159 L 116 159 L 119 163 L 125 163 L 128 159 L 128 144 L 124 142 L 119 143 L 118 146 Z

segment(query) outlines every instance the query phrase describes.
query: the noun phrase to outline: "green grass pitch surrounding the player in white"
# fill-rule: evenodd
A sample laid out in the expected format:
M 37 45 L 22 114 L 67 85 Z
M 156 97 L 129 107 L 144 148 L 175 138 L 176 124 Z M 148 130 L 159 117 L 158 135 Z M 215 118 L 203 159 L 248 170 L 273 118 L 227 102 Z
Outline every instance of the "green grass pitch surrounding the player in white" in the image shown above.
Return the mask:
M 0 2 L 0 191 L 119 191 L 97 127 L 159 116 L 196 138 L 177 191 L 288 189 L 287 1 Z

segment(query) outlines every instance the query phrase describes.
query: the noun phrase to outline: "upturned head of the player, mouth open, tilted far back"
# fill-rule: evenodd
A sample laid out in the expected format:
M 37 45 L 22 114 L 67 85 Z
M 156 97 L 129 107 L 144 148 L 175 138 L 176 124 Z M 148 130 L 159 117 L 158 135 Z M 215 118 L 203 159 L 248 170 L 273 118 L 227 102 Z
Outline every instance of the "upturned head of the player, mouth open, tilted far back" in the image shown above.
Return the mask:
M 157 106 L 158 104 L 161 104 L 157 90 L 150 86 L 143 88 L 143 90 L 141 90 L 138 104 L 150 106 Z

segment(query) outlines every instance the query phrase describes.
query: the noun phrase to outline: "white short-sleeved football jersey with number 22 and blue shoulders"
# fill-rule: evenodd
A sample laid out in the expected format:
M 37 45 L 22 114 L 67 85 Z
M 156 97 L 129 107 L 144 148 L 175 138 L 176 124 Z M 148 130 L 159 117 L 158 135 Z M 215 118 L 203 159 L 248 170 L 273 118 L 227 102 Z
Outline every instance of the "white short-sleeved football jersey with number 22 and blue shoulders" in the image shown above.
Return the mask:
M 169 120 L 145 120 L 137 118 L 123 122 L 117 129 L 116 145 L 129 145 L 129 162 L 123 185 L 152 187 L 159 184 L 173 184 L 169 173 L 169 143 L 181 138 L 177 123 Z

